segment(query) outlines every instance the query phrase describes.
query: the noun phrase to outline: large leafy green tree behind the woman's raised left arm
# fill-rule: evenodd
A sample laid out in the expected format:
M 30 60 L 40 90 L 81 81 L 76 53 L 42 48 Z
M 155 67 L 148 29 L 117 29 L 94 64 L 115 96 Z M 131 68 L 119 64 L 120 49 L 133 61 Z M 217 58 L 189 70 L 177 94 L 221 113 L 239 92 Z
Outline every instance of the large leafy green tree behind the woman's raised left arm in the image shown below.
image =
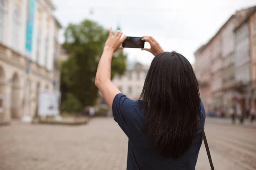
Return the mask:
M 63 47 L 71 57 L 61 65 L 61 92 L 71 93 L 81 105 L 94 105 L 98 89 L 94 85 L 96 70 L 108 30 L 98 23 L 84 20 L 70 24 L 65 30 Z M 126 55 L 117 51 L 111 62 L 111 79 L 126 70 Z M 62 99 L 64 99 L 62 98 Z

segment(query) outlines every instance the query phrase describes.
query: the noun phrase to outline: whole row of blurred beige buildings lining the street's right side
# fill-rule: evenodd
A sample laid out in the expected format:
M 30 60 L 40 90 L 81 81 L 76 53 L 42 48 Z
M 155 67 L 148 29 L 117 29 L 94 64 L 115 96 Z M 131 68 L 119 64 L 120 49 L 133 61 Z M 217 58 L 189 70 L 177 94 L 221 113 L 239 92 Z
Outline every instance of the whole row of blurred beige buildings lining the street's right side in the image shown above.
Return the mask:
M 215 36 L 195 52 L 195 72 L 202 101 L 207 104 L 211 101 L 207 111 L 228 113 L 233 107 L 245 116 L 250 108 L 255 108 L 255 14 L 256 7 L 236 11 Z M 209 66 L 209 74 L 202 63 Z M 207 81 L 205 74 L 210 77 Z M 205 89 L 209 90 L 207 94 Z

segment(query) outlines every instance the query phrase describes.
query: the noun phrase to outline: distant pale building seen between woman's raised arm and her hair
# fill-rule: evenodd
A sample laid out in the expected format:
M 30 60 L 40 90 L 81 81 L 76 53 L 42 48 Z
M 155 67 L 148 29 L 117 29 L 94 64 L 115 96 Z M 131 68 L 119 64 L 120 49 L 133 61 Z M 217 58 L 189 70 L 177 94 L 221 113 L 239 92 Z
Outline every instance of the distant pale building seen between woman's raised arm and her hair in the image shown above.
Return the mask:
M 132 68 L 128 68 L 123 76 L 114 77 L 113 85 L 128 98 L 137 100 L 140 98 L 148 69 L 148 65 L 137 63 Z

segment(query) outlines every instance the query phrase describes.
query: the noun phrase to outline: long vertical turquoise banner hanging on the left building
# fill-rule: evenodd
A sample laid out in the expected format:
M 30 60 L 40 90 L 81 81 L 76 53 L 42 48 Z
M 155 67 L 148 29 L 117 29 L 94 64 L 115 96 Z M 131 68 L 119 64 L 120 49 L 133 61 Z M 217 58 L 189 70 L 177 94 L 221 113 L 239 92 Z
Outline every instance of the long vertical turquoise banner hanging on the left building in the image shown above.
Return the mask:
M 32 52 L 32 39 L 33 39 L 33 25 L 34 25 L 34 15 L 35 15 L 35 5 L 36 0 L 29 0 L 29 14 L 27 18 L 27 27 L 26 27 L 26 54 L 31 57 Z

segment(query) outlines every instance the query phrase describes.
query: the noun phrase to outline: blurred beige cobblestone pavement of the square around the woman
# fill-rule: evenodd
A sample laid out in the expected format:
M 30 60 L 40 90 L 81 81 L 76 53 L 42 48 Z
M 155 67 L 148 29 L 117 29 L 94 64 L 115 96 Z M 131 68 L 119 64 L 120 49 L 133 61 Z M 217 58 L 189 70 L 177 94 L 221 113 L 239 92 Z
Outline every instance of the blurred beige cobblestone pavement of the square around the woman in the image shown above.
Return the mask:
M 208 121 L 205 130 L 216 170 L 256 170 L 256 129 Z M 113 118 L 88 125 L 0 127 L 0 170 L 125 170 L 128 138 Z M 196 170 L 209 170 L 204 145 Z

